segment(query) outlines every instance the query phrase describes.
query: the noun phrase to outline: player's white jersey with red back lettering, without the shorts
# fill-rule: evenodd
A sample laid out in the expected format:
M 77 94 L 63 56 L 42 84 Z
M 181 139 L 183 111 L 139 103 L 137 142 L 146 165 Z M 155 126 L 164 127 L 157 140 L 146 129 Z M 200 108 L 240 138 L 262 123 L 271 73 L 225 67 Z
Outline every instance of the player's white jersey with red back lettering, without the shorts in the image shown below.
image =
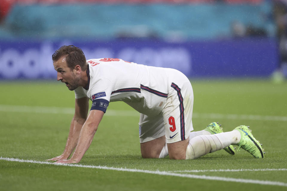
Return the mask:
M 75 90 L 76 98 L 124 101 L 146 115 L 157 115 L 162 111 L 171 84 L 169 76 L 178 72 L 117 58 L 90 59 L 87 62 L 89 83 L 86 88 Z

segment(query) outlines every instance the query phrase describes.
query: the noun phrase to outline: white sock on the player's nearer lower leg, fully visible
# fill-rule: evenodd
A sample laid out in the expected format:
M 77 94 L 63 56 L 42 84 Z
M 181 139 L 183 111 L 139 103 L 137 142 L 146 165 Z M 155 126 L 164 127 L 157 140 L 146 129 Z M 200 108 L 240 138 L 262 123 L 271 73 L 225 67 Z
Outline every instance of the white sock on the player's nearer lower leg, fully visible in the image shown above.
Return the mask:
M 237 144 L 240 138 L 241 135 L 237 130 L 213 135 L 196 136 L 189 140 L 186 149 L 186 159 L 199 158 L 207 153 L 228 147 L 230 144 Z

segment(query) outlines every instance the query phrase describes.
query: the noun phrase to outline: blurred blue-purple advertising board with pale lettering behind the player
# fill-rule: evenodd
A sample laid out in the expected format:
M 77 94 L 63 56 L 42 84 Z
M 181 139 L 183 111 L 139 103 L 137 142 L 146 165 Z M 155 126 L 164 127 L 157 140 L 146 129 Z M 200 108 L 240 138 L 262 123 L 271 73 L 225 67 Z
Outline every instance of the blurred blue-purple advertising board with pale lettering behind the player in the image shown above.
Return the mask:
M 52 79 L 52 54 L 62 45 L 80 47 L 90 58 L 121 58 L 175 68 L 190 78 L 267 77 L 278 67 L 277 41 L 248 38 L 172 43 L 157 40 L 0 41 L 0 79 Z

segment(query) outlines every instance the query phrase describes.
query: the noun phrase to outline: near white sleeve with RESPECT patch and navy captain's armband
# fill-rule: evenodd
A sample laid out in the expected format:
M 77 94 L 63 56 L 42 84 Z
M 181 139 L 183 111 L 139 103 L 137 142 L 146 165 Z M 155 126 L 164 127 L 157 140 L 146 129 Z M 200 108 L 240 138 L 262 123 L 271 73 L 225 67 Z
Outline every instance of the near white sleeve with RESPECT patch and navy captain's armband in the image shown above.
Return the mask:
M 112 82 L 101 78 L 90 85 L 92 107 L 91 110 L 101 110 L 106 113 L 112 93 Z

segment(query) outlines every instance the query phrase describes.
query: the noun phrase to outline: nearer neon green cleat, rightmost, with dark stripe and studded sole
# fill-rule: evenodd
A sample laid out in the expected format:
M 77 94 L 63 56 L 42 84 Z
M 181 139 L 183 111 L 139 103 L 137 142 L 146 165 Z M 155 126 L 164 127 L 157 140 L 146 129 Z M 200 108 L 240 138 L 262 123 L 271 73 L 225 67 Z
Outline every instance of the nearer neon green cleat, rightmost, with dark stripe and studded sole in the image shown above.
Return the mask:
M 249 126 L 241 125 L 236 127 L 234 130 L 238 130 L 241 135 L 241 139 L 237 144 L 239 148 L 246 150 L 248 153 L 253 155 L 255 158 L 264 158 L 264 149 L 262 149 L 259 141 L 257 141 L 251 133 Z M 238 148 L 238 150 L 239 150 Z

